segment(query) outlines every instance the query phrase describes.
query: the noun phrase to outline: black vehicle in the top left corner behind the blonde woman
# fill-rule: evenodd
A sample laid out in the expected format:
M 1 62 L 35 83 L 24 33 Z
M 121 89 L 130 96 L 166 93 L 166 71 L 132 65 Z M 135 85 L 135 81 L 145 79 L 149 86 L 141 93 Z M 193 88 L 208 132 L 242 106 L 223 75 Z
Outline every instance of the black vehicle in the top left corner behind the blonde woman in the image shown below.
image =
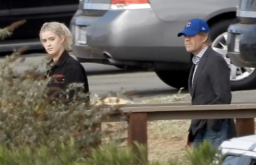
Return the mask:
M 26 19 L 13 34 L 0 41 L 0 52 L 9 52 L 22 46 L 40 50 L 39 31 L 44 22 L 59 21 L 69 25 L 78 9 L 79 0 L 0 0 L 0 27 Z

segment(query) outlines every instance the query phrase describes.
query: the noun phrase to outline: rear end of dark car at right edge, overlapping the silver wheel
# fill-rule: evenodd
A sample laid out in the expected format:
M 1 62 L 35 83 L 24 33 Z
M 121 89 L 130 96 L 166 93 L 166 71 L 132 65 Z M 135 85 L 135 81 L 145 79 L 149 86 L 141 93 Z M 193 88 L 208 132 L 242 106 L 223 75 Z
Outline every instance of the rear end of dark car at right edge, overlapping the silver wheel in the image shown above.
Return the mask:
M 256 87 L 256 1 L 239 0 L 237 22 L 228 28 L 228 56 L 232 64 L 247 68 L 244 79 L 250 89 Z

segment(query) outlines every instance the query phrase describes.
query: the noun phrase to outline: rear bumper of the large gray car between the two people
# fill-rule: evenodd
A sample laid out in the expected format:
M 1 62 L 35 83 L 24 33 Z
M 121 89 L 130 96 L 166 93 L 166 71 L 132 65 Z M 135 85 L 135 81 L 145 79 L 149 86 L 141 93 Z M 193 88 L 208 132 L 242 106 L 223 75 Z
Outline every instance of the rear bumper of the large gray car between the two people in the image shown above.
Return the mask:
M 81 44 L 79 31 L 85 26 L 87 41 Z M 85 59 L 106 59 L 105 51 L 117 60 L 188 63 L 184 41 L 177 37 L 183 26 L 183 22 L 172 25 L 158 19 L 152 9 L 109 10 L 102 17 L 75 14 L 70 25 L 72 50 L 75 56 Z M 179 56 L 174 55 L 177 51 Z

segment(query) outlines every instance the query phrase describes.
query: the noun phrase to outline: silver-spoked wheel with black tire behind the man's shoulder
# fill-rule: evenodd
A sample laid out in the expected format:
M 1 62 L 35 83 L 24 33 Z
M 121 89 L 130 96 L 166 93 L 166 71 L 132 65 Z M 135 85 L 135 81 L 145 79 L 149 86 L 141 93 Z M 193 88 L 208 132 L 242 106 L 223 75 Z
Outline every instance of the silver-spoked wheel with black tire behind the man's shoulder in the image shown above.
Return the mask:
M 232 64 L 227 51 L 227 28 L 233 19 L 222 20 L 210 27 L 212 48 L 223 55 L 230 68 L 231 90 L 250 90 L 256 87 L 256 71 L 254 68 L 238 67 Z

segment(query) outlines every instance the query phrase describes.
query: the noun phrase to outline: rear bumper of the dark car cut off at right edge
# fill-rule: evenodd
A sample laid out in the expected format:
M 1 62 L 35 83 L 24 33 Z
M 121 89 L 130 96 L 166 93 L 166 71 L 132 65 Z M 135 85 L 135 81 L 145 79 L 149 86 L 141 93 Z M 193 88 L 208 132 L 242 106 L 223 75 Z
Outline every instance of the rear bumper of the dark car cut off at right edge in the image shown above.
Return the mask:
M 232 64 L 256 67 L 256 24 L 232 24 L 228 28 L 228 56 Z

